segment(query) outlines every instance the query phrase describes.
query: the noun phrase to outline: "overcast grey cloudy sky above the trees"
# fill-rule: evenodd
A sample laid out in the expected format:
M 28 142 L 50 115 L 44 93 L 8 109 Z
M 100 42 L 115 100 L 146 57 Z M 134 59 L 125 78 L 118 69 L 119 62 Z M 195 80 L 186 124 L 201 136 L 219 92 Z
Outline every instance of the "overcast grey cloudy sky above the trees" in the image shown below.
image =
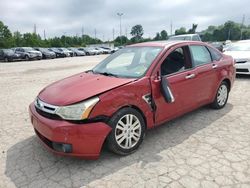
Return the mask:
M 156 32 L 168 34 L 180 27 L 198 24 L 197 31 L 227 20 L 250 25 L 250 0 L 0 0 L 0 21 L 21 33 L 33 32 L 41 37 L 81 36 L 82 32 L 101 40 L 113 40 L 120 34 L 131 37 L 131 28 L 141 24 L 143 37 Z

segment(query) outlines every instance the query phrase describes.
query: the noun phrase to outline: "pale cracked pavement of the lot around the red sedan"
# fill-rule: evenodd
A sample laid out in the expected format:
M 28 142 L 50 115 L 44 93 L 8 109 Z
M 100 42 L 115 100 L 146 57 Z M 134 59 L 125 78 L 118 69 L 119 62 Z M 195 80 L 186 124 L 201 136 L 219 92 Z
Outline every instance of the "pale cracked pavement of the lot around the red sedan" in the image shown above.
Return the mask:
M 147 132 L 139 150 L 96 161 L 55 156 L 36 138 L 28 105 L 53 81 L 105 56 L 0 63 L 0 187 L 250 187 L 250 77 L 222 110 L 202 107 Z

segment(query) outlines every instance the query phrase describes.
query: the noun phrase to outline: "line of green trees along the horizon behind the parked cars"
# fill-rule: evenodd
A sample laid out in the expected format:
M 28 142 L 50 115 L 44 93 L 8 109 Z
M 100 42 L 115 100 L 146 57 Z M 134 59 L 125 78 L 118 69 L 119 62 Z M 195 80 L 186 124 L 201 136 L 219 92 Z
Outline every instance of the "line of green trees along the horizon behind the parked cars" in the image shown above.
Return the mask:
M 198 24 L 192 24 L 190 29 L 181 27 L 175 30 L 175 35 L 196 33 Z M 157 32 L 153 38 L 143 38 L 144 29 L 138 24 L 131 28 L 131 39 L 126 36 L 118 36 L 113 42 L 115 46 L 133 44 L 138 42 L 146 42 L 152 40 L 167 40 L 169 35 L 166 30 Z M 208 26 L 208 28 L 199 33 L 203 41 L 225 41 L 225 40 L 240 40 L 250 39 L 250 25 L 239 24 L 233 21 L 227 21 L 219 26 Z M 0 21 L 0 48 L 11 48 L 20 46 L 30 47 L 78 47 L 89 44 L 100 44 L 104 41 L 92 38 L 89 35 L 82 36 L 61 36 L 49 39 L 42 39 L 36 33 L 20 33 L 16 31 L 11 33 L 8 26 Z

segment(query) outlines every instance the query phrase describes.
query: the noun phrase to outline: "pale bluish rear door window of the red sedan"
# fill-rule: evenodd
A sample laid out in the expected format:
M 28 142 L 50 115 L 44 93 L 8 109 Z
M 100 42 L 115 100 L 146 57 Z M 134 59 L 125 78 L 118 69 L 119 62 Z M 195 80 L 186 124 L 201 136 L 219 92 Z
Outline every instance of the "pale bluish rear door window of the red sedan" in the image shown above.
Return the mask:
M 194 66 L 212 62 L 211 55 L 205 46 L 189 46 Z

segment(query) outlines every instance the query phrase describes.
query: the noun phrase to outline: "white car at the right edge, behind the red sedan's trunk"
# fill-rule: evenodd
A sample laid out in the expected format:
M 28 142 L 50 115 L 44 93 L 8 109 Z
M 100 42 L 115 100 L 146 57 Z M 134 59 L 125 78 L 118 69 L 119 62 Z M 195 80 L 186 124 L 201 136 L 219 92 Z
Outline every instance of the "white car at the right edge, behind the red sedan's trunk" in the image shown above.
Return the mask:
M 250 75 L 250 42 L 239 41 L 232 43 L 224 52 L 230 55 L 235 60 L 235 67 L 237 74 Z

